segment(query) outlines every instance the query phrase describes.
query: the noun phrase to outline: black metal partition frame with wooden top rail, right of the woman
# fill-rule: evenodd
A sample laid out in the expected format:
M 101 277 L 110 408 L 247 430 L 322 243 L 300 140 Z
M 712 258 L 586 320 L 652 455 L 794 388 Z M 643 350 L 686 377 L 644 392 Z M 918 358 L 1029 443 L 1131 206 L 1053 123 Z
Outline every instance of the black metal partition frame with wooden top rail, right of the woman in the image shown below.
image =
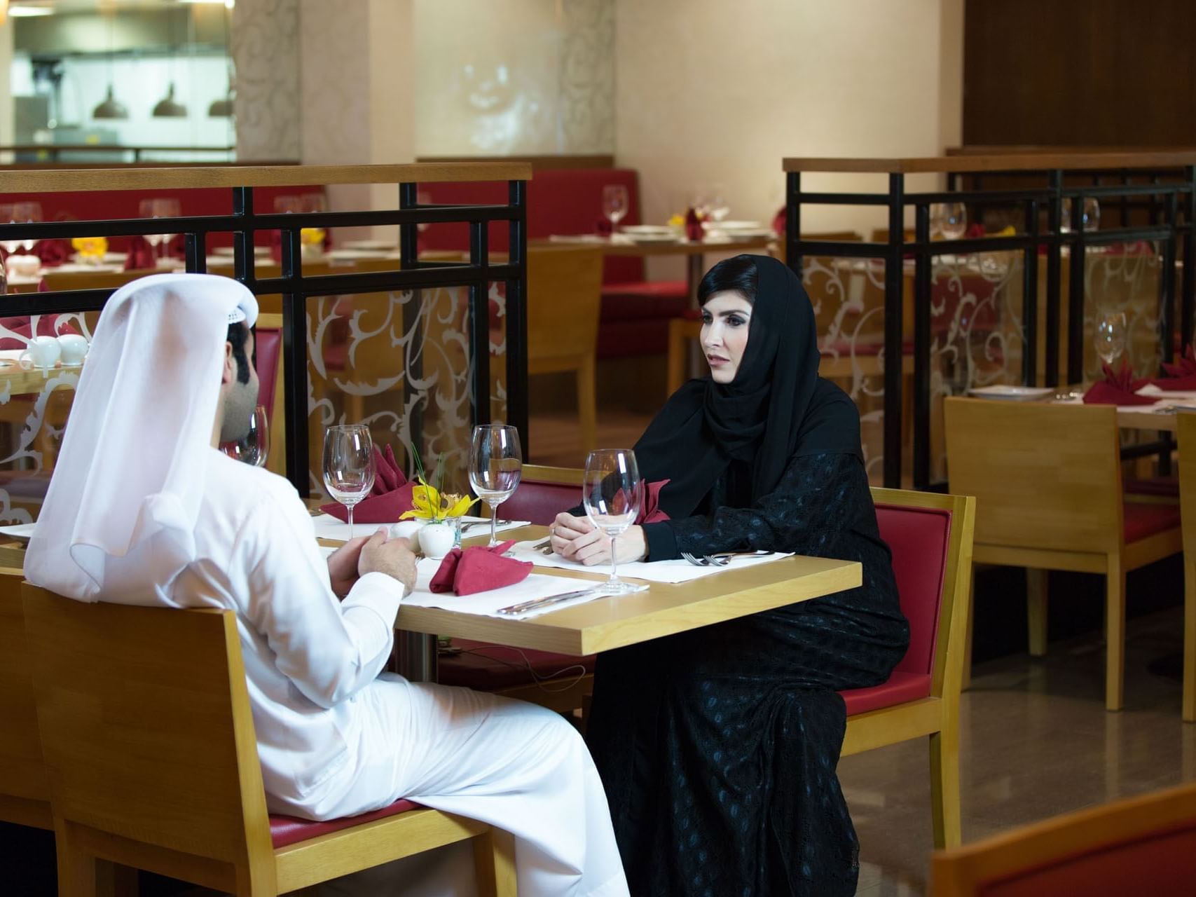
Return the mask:
M 1084 377 L 1084 263 L 1085 248 L 1128 240 L 1157 240 L 1163 250 L 1160 318 L 1163 358 L 1170 360 L 1174 337 L 1176 260 L 1182 250 L 1179 327 L 1182 346 L 1192 340 L 1196 323 L 1196 153 L 1072 153 L 953 155 L 914 159 L 806 159 L 783 160 L 786 172 L 786 258 L 801 276 L 804 256 L 879 258 L 884 261 L 884 483 L 901 486 L 902 477 L 902 358 L 903 344 L 903 260 L 914 258 L 914 426 L 913 483 L 932 489 L 930 482 L 930 289 L 932 257 L 942 254 L 1020 251 L 1023 254 L 1024 344 L 1021 382 L 1033 385 L 1038 378 L 1037 353 L 1045 349 L 1045 384 L 1058 385 L 1062 248 L 1070 246 L 1068 303 L 1067 379 Z M 886 193 L 817 193 L 803 189 L 805 173 L 859 173 L 887 178 Z M 1075 184 L 1075 176 L 1098 179 L 1117 175 L 1113 185 Z M 907 175 L 942 175 L 947 190 L 910 193 Z M 958 190 L 959 179 L 972 176 L 971 189 Z M 1030 189 L 977 189 L 975 176 L 1039 178 Z M 1081 220 L 1086 197 L 1117 197 L 1151 209 L 1151 220 L 1141 226 L 1099 231 L 1061 230 L 1063 203 L 1070 203 L 1070 220 Z M 1018 212 L 1018 233 L 1012 237 L 930 240 L 933 203 L 964 202 L 972 208 L 1005 207 Z M 803 239 L 803 207 L 874 206 L 887 212 L 887 243 L 846 243 Z M 914 209 L 914 239 L 905 239 L 907 208 Z M 1045 221 L 1043 216 L 1045 215 Z M 1038 248 L 1046 246 L 1045 332 L 1038 332 Z M 1165 444 L 1151 451 L 1166 448 Z

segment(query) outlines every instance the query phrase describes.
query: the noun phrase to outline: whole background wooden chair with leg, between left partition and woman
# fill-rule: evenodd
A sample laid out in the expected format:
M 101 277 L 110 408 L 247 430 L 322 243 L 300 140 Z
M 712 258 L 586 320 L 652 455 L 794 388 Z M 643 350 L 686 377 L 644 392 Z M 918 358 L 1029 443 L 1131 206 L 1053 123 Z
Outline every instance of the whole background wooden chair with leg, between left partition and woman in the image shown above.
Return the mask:
M 575 374 L 582 453 L 598 441 L 594 355 L 602 263 L 597 248 L 527 250 L 527 373 Z

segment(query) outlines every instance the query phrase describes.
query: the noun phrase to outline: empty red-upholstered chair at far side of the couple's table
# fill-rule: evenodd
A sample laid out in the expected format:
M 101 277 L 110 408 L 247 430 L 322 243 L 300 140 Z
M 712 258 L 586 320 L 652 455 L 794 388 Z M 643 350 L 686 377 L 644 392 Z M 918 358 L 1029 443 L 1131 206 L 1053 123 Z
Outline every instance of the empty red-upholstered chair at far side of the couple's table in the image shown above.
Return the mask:
M 519 488 L 502 502 L 502 513 L 512 520 L 548 526 L 557 513 L 581 502 L 581 476 L 575 468 L 524 464 Z M 453 639 L 450 651 L 439 657 L 437 681 L 572 713 L 593 691 L 593 655 Z

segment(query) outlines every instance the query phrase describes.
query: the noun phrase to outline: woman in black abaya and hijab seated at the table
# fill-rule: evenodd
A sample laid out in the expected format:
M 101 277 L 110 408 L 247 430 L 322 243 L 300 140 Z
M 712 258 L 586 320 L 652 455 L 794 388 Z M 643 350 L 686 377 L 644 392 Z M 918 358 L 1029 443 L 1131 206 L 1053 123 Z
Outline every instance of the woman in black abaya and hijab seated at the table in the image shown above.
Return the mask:
M 765 256 L 702 280 L 710 376 L 679 389 L 635 445 L 669 480 L 671 519 L 631 527 L 620 560 L 794 551 L 860 561 L 859 588 L 608 652 L 586 740 L 634 895 L 852 895 L 858 843 L 835 767 L 837 690 L 884 682 L 909 630 L 880 539 L 854 403 L 818 377 L 810 299 Z M 561 514 L 553 545 L 610 543 Z

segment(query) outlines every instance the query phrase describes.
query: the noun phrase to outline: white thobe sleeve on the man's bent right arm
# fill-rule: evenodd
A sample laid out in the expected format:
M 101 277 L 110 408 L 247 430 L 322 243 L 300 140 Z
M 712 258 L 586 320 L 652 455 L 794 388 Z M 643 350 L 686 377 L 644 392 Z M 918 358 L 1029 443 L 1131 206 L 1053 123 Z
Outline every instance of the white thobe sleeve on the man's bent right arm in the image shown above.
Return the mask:
M 263 501 L 238 543 L 249 567 L 249 620 L 299 691 L 332 707 L 382 672 L 395 640 L 402 582 L 367 573 L 338 600 L 298 496 L 293 506 L 277 496 Z

